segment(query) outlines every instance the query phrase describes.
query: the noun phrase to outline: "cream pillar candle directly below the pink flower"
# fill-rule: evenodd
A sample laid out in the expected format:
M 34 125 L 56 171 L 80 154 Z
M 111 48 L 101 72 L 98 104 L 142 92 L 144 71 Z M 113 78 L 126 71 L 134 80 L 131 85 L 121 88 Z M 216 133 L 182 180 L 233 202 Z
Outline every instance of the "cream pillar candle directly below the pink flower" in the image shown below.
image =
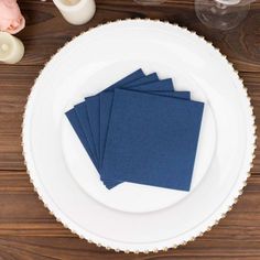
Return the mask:
M 0 32 L 0 62 L 14 64 L 24 54 L 22 42 L 7 32 Z

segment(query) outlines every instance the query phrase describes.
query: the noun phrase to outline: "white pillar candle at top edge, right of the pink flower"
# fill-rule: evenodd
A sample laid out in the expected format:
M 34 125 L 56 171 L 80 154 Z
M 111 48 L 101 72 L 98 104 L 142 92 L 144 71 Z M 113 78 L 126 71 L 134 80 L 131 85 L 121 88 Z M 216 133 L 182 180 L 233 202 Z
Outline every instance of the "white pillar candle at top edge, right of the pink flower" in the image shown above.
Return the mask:
M 64 19 L 75 25 L 88 22 L 96 12 L 95 0 L 53 0 Z

